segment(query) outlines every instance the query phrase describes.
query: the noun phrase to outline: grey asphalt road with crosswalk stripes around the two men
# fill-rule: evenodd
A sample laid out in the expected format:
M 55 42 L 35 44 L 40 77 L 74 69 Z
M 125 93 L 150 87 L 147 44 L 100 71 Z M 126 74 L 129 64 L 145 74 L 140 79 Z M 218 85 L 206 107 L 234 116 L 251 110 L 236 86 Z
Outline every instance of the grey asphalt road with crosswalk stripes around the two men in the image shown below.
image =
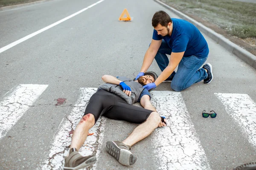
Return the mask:
M 132 22 L 118 21 L 124 8 Z M 53 0 L 0 11 L 0 170 L 61 169 L 102 75 L 134 78 L 140 71 L 158 10 L 177 17 L 153 0 Z M 166 82 L 151 93 L 169 126 L 132 147 L 131 167 L 109 156 L 105 144 L 137 125 L 103 117 L 81 149 L 96 154 L 91 169 L 231 170 L 256 161 L 256 70 L 205 38 L 213 81 L 182 92 Z M 155 61 L 149 70 L 160 74 Z M 205 119 L 203 110 L 217 117 Z

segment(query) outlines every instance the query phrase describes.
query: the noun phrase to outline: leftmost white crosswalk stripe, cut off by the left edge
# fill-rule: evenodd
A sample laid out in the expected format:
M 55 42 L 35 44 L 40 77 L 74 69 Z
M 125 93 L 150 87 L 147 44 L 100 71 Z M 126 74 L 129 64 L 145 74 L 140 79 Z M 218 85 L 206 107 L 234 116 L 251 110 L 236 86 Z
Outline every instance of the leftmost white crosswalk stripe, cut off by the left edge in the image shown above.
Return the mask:
M 23 116 L 48 85 L 18 85 L 0 102 L 0 139 Z

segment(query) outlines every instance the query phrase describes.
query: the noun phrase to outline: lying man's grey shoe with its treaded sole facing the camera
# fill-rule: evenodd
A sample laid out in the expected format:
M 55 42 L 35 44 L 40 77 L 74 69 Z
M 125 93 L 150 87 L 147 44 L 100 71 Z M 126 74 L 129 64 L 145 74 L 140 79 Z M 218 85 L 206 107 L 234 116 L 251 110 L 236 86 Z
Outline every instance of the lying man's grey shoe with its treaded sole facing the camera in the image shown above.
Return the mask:
M 136 162 L 136 156 L 129 151 L 131 146 L 118 141 L 108 141 L 106 144 L 107 152 L 113 156 L 120 164 L 128 166 Z

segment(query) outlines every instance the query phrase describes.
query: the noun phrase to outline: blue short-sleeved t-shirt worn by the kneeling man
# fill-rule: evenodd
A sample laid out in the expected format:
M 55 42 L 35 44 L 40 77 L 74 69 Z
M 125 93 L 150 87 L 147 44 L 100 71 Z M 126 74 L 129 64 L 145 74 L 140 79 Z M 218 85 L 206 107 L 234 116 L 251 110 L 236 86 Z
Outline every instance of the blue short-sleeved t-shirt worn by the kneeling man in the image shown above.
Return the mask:
M 177 18 L 172 19 L 172 35 L 161 36 L 157 35 L 157 31 L 154 29 L 153 40 L 165 40 L 172 52 L 183 52 L 184 57 L 195 55 L 199 58 L 207 57 L 209 54 L 209 48 L 204 36 L 192 23 L 186 20 Z

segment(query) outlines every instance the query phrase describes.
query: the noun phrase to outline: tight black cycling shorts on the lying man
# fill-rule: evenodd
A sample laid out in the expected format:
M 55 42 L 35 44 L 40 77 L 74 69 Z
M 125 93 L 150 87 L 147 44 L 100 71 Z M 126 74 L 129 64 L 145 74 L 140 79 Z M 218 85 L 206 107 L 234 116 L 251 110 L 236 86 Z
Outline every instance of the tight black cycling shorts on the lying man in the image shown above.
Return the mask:
M 124 99 L 100 89 L 93 96 L 85 109 L 84 115 L 94 115 L 95 123 L 99 116 L 109 119 L 125 120 L 131 123 L 143 123 L 153 111 L 130 105 Z

